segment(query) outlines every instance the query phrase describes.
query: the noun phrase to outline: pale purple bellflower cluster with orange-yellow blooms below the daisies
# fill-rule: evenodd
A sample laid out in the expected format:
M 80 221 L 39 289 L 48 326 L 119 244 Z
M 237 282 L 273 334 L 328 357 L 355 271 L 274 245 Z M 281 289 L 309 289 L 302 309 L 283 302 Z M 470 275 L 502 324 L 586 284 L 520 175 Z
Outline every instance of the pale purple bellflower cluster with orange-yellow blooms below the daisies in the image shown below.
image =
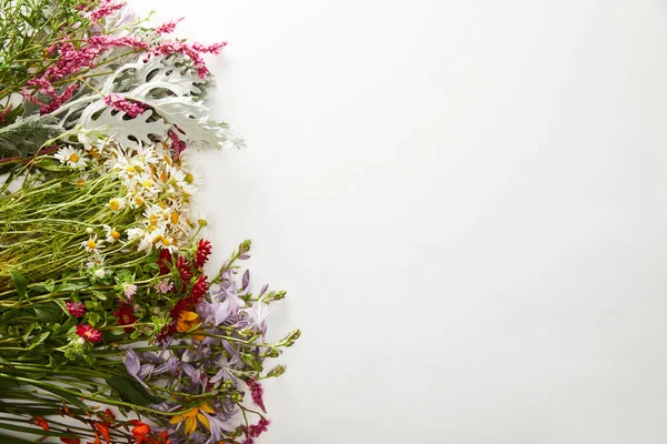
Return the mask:
M 201 245 L 199 254 L 205 250 Z M 247 256 L 247 248 L 242 244 L 237 258 Z M 180 272 L 176 266 L 173 273 Z M 189 437 L 195 443 L 208 443 L 211 438 L 219 442 L 243 436 L 245 443 L 252 443 L 269 425 L 261 413 L 243 401 L 249 397 L 266 413 L 258 381 L 263 362 L 278 356 L 281 347 L 291 346 L 300 332 L 290 333 L 277 344 L 265 343 L 266 316 L 283 293 L 267 292 L 265 286 L 252 295 L 249 273 L 240 280 L 237 276 L 237 269 L 225 268 L 202 297 L 192 299 L 191 293 L 186 297 L 187 303 L 177 313 L 176 330 L 163 336 L 176 346 L 125 352 L 127 371 L 139 384 L 159 386 L 173 394 L 152 407 L 177 413 L 165 425 L 177 442 Z M 278 376 L 283 371 L 283 366 L 278 366 L 263 377 Z M 259 415 L 259 422 L 232 425 L 230 420 L 240 412 L 245 417 Z M 159 422 L 153 416 L 151 420 Z

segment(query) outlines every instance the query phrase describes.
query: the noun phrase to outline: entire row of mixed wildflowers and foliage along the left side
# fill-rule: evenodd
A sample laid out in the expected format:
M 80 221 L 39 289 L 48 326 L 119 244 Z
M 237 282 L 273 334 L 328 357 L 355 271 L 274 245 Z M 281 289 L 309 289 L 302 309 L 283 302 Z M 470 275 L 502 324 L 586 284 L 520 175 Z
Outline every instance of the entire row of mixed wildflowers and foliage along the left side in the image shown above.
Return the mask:
M 215 275 L 192 212 L 203 56 L 112 0 L 0 0 L 0 442 L 245 443 L 283 291 L 241 242 Z

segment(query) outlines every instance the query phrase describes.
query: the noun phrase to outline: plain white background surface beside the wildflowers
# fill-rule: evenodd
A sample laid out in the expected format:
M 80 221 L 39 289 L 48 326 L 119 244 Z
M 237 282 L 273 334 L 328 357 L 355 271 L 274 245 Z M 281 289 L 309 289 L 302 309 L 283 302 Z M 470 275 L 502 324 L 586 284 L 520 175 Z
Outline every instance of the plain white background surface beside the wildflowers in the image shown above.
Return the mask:
M 262 443 L 667 442 L 667 6 L 135 0 L 229 40 L 216 262 L 301 327 Z

